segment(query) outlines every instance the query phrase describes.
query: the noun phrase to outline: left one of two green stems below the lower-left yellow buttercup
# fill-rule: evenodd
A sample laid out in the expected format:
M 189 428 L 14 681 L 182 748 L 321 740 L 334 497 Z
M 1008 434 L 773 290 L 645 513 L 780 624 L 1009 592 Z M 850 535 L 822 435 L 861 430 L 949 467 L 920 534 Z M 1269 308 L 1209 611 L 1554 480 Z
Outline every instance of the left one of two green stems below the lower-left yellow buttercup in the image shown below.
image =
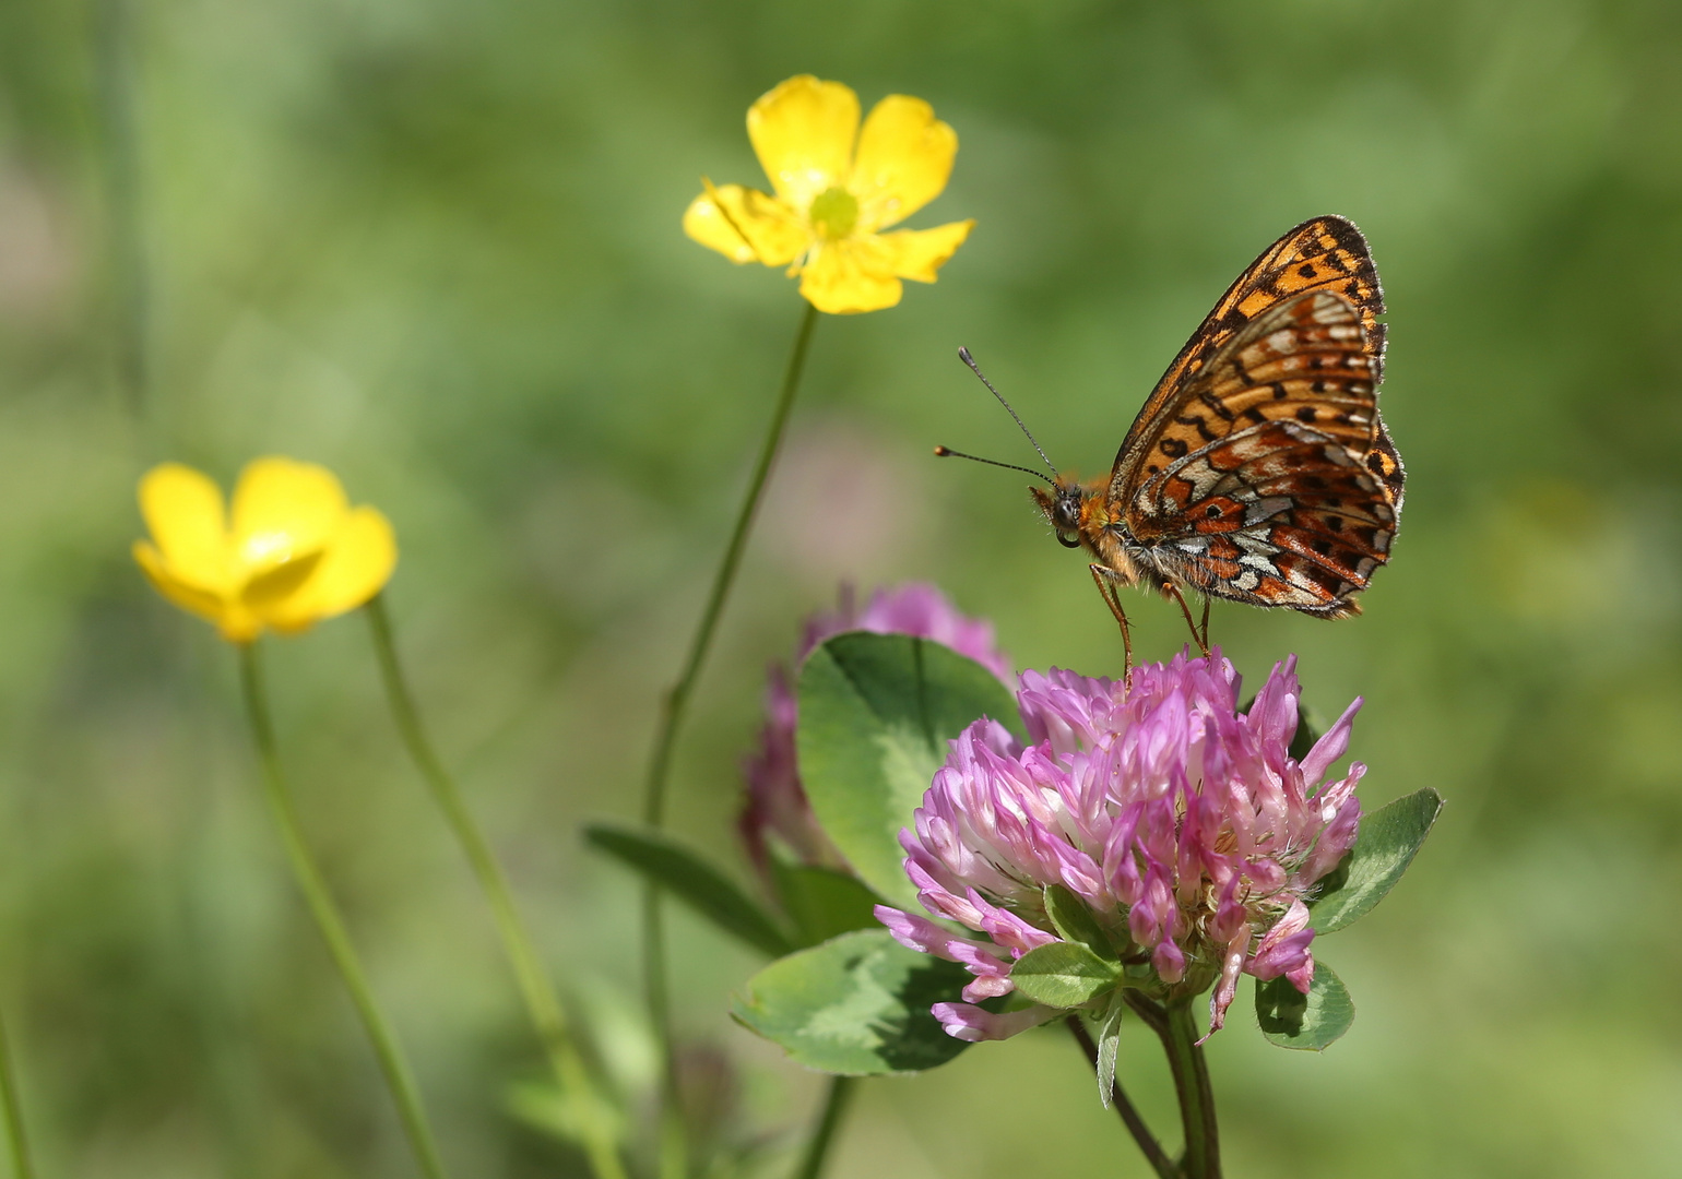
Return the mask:
M 298 888 L 309 905 L 309 913 L 321 932 L 321 940 L 326 942 L 333 965 L 338 967 L 340 977 L 345 979 L 345 989 L 350 991 L 357 1014 L 362 1016 L 362 1026 L 373 1044 L 373 1055 L 380 1063 L 380 1073 L 385 1075 L 385 1085 L 392 1092 L 392 1100 L 397 1102 L 397 1113 L 402 1118 L 404 1132 L 409 1135 L 409 1144 L 414 1147 L 415 1159 L 420 1162 L 420 1171 L 427 1179 L 444 1179 L 444 1160 L 439 1157 L 437 1142 L 432 1139 L 432 1127 L 426 1120 L 420 1092 L 415 1088 L 414 1076 L 409 1071 L 409 1061 L 404 1060 L 397 1036 L 373 1001 L 373 991 L 368 987 L 362 962 L 350 944 L 350 933 L 345 932 L 345 920 L 340 917 L 338 905 L 333 903 L 333 895 L 328 891 L 326 881 L 321 878 L 321 870 L 309 854 L 303 831 L 298 826 L 293 796 L 286 787 L 286 779 L 281 775 L 281 759 L 274 743 L 274 722 L 269 718 L 269 700 L 262 685 L 262 656 L 256 642 L 246 642 L 239 648 L 239 678 L 241 686 L 246 690 L 251 735 L 257 745 L 257 759 L 262 762 L 262 785 L 269 797 L 269 809 L 274 812 L 274 822 L 281 829 L 281 844 L 286 848 L 293 876 L 298 880 Z

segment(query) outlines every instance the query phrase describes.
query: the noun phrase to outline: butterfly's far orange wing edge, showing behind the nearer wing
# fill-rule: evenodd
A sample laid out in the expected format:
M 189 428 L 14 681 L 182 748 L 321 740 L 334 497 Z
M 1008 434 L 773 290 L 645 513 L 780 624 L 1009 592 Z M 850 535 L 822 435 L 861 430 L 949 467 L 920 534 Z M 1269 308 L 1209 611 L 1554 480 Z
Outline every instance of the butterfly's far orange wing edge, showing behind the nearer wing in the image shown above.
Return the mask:
M 1373 383 L 1383 380 L 1384 325 L 1378 316 L 1384 313 L 1384 289 L 1379 286 L 1378 267 L 1373 266 L 1366 237 L 1354 222 L 1342 217 L 1305 220 L 1262 251 L 1262 256 L 1226 288 L 1226 294 L 1162 373 L 1115 454 L 1110 474 L 1112 498 L 1117 498 L 1125 471 L 1140 466 L 1137 457 L 1145 449 L 1145 436 L 1154 434 L 1164 414 L 1184 400 L 1181 394 L 1186 383 L 1203 372 L 1209 358 L 1256 316 L 1282 299 L 1309 291 L 1334 291 L 1359 311 L 1361 328 L 1366 333 L 1362 350 L 1371 360 Z M 1389 451 L 1394 454 L 1394 447 Z M 1396 471 L 1401 471 L 1399 461 Z

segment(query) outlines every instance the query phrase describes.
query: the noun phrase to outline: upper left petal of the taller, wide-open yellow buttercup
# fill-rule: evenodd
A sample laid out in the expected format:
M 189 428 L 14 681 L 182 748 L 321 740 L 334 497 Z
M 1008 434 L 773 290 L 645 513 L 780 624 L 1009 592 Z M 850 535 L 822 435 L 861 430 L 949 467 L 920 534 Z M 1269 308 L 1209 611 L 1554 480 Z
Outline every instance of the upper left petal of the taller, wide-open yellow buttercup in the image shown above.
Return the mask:
M 858 94 L 811 74 L 791 77 L 747 111 L 747 136 L 770 187 L 801 212 L 846 182 L 854 135 Z

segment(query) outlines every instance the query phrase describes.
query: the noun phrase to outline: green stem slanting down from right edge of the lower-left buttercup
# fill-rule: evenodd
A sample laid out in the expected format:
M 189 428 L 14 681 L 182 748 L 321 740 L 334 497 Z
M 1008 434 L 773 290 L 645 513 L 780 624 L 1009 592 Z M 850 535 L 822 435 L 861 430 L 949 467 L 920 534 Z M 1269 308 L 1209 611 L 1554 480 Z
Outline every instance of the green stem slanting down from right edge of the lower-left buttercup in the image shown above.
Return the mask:
M 555 1081 L 582 1108 L 579 1134 L 584 1152 L 590 1160 L 590 1169 L 597 1179 L 626 1179 L 624 1162 L 619 1159 L 619 1145 L 614 1135 L 614 1117 L 606 1108 L 602 1095 L 584 1065 L 584 1056 L 567 1031 L 567 1014 L 560 1004 L 560 996 L 548 972 L 543 969 L 543 960 L 532 942 L 532 933 L 521 920 L 520 910 L 515 907 L 508 876 L 503 873 L 501 864 L 496 863 L 489 841 L 484 838 L 479 824 L 474 822 L 473 812 L 468 811 L 461 790 L 456 787 L 456 780 L 444 769 L 437 752 L 432 748 L 432 742 L 427 738 L 426 727 L 420 723 L 420 710 L 415 706 L 414 693 L 409 690 L 402 663 L 397 658 L 392 619 L 385 609 L 383 595 L 377 594 L 368 600 L 367 614 L 368 627 L 373 632 L 373 651 L 380 663 L 380 678 L 385 681 L 385 696 L 390 701 L 397 732 L 402 735 L 409 755 L 420 770 L 420 777 L 431 787 L 432 797 L 444 812 L 444 819 L 461 844 L 463 854 L 468 856 L 473 873 L 479 878 L 479 888 L 491 907 L 496 932 L 503 940 L 503 952 L 508 955 L 508 965 L 520 987 L 520 997 L 525 1001 L 532 1026 L 537 1029 L 538 1041 L 548 1055 Z

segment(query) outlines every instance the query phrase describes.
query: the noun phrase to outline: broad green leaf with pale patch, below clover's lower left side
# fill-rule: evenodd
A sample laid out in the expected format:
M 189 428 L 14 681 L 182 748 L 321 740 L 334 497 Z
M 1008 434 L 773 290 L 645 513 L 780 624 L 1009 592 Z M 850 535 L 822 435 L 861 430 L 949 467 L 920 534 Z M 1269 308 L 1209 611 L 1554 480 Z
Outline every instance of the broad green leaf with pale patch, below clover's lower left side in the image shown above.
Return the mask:
M 843 933 L 772 962 L 730 1014 L 807 1068 L 846 1076 L 917 1073 L 969 1048 L 928 1014 L 954 1002 L 969 970 L 907 950 L 886 930 Z

